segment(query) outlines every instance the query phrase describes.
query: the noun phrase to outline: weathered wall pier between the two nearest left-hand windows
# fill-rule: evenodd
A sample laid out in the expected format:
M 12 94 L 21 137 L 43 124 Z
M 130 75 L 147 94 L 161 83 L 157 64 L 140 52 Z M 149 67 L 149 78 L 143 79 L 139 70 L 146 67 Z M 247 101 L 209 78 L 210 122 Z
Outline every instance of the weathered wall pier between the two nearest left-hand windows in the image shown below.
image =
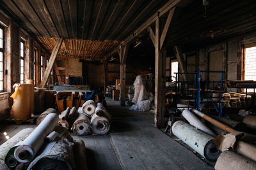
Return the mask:
M 20 28 L 10 22 L 6 31 L 6 91 L 11 94 L 15 83 L 20 83 Z

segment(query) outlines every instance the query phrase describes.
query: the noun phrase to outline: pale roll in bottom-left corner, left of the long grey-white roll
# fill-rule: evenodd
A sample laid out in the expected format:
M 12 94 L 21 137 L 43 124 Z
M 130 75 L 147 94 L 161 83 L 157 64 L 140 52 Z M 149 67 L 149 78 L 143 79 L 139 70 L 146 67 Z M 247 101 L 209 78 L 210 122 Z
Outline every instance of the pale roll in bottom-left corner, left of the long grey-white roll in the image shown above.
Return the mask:
M 0 146 L 0 169 L 8 169 L 8 167 L 15 167 L 17 165 L 13 152 L 18 146 L 17 144 L 23 141 L 32 131 L 34 131 L 34 128 L 23 129 Z

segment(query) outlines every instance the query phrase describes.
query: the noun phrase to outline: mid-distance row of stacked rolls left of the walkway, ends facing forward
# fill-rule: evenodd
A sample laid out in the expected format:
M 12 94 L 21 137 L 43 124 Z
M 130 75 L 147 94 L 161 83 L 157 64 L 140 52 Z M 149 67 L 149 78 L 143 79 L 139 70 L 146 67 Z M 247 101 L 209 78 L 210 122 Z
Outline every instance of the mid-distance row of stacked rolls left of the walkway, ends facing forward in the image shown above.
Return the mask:
M 44 111 L 36 120 L 40 124 L 49 113 L 58 111 L 49 108 Z M 58 125 L 67 127 L 77 135 L 106 134 L 110 129 L 111 115 L 101 103 L 92 100 L 86 101 L 78 110 L 76 107 L 68 107 L 59 115 Z

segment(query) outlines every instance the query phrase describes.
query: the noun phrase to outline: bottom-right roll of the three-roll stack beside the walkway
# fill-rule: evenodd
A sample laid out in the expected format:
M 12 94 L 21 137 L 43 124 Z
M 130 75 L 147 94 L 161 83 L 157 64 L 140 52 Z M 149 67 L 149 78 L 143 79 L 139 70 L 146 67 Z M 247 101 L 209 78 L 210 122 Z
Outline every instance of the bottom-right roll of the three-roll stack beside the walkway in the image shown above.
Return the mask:
M 106 117 L 99 117 L 97 114 L 93 114 L 91 119 L 91 131 L 94 134 L 106 134 L 110 129 L 109 120 Z

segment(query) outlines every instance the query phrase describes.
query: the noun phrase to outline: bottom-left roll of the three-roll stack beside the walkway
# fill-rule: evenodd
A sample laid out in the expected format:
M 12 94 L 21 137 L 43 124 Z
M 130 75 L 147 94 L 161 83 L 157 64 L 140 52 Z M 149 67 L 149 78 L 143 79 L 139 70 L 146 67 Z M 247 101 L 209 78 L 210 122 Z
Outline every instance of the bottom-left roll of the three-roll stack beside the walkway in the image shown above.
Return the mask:
M 90 120 L 83 113 L 79 113 L 72 128 L 77 135 L 88 135 L 90 133 Z

